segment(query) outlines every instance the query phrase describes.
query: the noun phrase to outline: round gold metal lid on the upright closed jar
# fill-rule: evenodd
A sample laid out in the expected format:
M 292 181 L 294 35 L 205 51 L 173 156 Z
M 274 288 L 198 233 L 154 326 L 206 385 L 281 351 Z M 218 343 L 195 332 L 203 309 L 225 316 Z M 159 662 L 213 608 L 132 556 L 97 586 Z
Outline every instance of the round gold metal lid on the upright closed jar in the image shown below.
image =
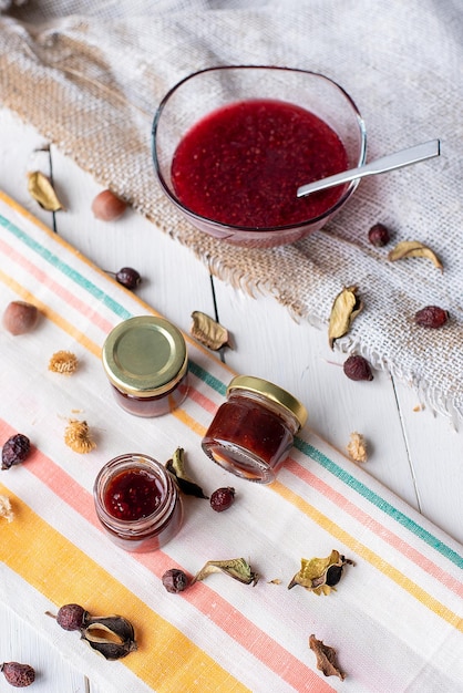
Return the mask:
M 182 332 L 154 316 L 130 318 L 116 325 L 103 344 L 102 361 L 112 384 L 138 397 L 167 392 L 188 368 Z

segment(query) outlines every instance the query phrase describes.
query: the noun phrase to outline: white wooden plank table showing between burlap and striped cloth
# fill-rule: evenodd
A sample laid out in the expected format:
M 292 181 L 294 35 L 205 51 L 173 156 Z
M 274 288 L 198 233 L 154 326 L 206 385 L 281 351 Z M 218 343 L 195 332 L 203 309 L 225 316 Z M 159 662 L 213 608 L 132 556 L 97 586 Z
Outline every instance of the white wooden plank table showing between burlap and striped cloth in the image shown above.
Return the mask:
M 309 410 L 308 425 L 338 449 L 346 452 L 351 432 L 362 433 L 370 451 L 367 470 L 463 542 L 463 424 L 455 431 L 387 373 L 375 372 L 372 382 L 348 380 L 340 372 L 344 356 L 331 352 L 326 331 L 297 324 L 271 297 L 253 298 L 212 278 L 187 248 L 132 209 L 113 224 L 95 220 L 91 203 L 101 186 L 54 146 L 43 151 L 48 145 L 0 107 L 0 189 L 101 268 L 137 269 L 138 296 L 184 331 L 189 332 L 194 310 L 216 316 L 233 335 L 235 348 L 224 356 L 228 365 L 294 393 Z M 51 215 L 30 198 L 27 172 L 34 169 L 52 174 L 66 211 Z M 17 660 L 47 671 L 34 691 L 104 693 L 8 604 L 0 603 L 0 663 Z M 7 687 L 0 680 L 0 691 Z

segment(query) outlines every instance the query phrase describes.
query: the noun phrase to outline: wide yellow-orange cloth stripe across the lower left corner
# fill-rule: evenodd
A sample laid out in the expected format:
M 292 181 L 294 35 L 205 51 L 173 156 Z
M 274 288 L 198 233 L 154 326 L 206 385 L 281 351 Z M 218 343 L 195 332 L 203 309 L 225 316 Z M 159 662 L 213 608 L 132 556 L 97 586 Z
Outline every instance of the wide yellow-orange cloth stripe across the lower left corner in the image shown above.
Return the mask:
M 138 650 L 122 662 L 157 693 L 248 691 L 1 484 L 0 493 L 16 513 L 2 527 L 3 562 L 56 606 L 79 601 L 91 613 L 116 610 L 125 616 L 135 628 Z

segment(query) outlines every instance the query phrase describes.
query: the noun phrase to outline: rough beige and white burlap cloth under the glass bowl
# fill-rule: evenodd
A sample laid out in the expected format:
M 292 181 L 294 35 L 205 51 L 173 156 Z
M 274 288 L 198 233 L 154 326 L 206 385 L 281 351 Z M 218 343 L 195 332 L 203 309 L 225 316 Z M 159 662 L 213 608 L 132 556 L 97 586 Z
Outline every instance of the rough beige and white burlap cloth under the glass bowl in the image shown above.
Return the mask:
M 275 296 L 326 327 L 335 296 L 357 285 L 364 310 L 343 351 L 411 383 L 436 411 L 463 416 L 463 12 L 457 0 L 55 0 L 0 18 L 0 99 L 95 179 L 236 287 Z M 440 137 L 439 159 L 369 178 L 323 230 L 292 246 L 249 250 L 184 223 L 153 173 L 151 126 L 177 80 L 215 64 L 279 64 L 322 72 L 354 99 L 371 161 Z M 3 172 L 2 172 L 3 173 Z M 367 238 L 441 258 L 390 262 Z M 136 238 L 134 238 L 136 242 Z M 391 244 L 392 245 L 392 244 Z M 441 330 L 413 324 L 438 304 Z M 328 346 L 327 346 L 328 349 Z

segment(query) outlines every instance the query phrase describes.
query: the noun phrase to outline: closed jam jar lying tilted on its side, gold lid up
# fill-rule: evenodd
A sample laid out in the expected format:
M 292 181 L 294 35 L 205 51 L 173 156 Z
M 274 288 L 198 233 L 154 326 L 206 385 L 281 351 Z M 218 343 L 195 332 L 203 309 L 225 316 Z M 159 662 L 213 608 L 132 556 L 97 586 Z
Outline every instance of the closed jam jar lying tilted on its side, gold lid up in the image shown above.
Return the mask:
M 306 407 L 278 385 L 234 377 L 203 438 L 214 462 L 251 482 L 271 483 L 307 421 Z

